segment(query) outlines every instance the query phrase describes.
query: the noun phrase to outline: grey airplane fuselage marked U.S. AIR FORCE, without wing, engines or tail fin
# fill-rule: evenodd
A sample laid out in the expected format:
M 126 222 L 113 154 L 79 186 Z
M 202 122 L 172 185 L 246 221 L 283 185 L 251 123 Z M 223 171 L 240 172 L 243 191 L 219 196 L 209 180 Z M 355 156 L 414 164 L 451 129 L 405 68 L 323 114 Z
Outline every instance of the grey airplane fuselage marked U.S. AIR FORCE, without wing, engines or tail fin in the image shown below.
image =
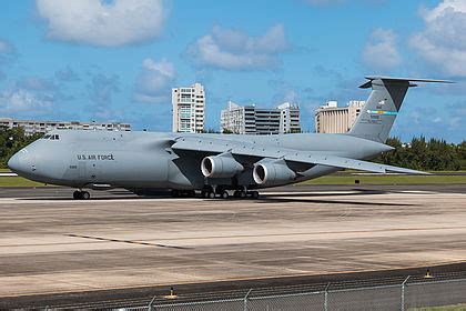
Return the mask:
M 389 147 L 345 134 L 182 134 L 154 132 L 55 130 L 19 151 L 9 162 L 18 174 L 28 179 L 73 188 L 105 189 L 202 189 L 209 179 L 201 172 L 201 161 L 209 154 L 171 149 L 179 137 L 199 139 L 221 138 L 235 143 L 247 142 L 257 147 L 290 148 L 368 159 Z M 54 138 L 54 139 L 52 139 Z M 241 158 L 241 157 L 240 157 Z M 303 173 L 293 183 L 337 171 L 325 165 L 302 165 Z M 265 188 L 255 184 L 252 165 L 246 165 L 234 180 L 216 180 L 233 188 Z M 276 185 L 276 184 L 274 184 Z

